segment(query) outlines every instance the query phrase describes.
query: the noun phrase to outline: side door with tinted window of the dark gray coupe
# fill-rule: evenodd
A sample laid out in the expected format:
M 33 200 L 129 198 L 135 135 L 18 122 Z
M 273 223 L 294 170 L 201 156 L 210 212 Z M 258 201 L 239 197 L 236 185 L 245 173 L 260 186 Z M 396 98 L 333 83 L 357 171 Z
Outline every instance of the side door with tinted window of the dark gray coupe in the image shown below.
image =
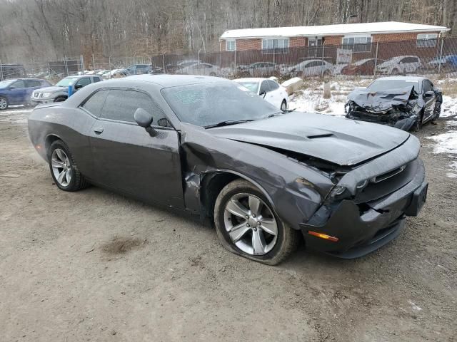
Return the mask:
M 148 94 L 109 90 L 91 130 L 94 182 L 147 202 L 184 208 L 179 135 L 176 130 L 154 126 L 159 134 L 151 137 L 135 123 L 138 108 L 153 115 L 153 126 L 165 118 Z

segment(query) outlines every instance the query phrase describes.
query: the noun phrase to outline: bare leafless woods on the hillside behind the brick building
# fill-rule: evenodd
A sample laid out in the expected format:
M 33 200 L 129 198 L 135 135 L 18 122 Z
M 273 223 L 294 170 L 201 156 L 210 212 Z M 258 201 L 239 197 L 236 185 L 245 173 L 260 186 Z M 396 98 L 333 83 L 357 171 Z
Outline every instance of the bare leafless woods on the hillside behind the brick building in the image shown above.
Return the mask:
M 350 21 L 443 25 L 452 34 L 456 14 L 457 0 L 0 0 L 0 59 L 210 52 L 228 29 Z

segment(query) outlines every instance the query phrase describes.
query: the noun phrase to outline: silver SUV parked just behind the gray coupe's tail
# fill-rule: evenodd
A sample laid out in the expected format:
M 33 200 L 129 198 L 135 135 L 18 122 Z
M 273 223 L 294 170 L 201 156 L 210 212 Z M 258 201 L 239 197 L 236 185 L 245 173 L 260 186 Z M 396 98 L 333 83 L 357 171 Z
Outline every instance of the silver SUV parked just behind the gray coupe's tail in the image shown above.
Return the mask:
M 30 98 L 31 103 L 36 105 L 39 103 L 62 102 L 69 97 L 69 86 L 76 93 L 81 88 L 100 81 L 101 78 L 98 75 L 68 76 L 62 78 L 55 86 L 34 90 Z

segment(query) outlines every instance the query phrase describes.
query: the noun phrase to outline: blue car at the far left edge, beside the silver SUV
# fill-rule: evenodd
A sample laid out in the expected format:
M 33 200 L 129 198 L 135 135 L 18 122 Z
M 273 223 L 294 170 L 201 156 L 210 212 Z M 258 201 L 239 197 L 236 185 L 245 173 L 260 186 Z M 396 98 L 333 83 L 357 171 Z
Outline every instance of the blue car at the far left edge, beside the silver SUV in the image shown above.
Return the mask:
M 30 105 L 30 95 L 35 89 L 51 86 L 38 78 L 15 78 L 0 82 L 0 110 L 9 105 Z

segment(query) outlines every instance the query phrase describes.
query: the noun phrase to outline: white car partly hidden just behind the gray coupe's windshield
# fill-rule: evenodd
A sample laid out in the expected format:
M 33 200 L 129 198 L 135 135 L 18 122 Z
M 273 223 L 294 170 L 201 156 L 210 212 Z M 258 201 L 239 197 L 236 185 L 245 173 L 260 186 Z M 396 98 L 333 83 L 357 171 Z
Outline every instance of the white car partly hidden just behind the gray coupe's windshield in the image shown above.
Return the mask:
M 237 78 L 233 80 L 244 88 L 248 88 L 253 93 L 262 96 L 272 105 L 287 110 L 288 108 L 288 95 L 286 88 L 281 86 L 278 82 L 268 78 Z

